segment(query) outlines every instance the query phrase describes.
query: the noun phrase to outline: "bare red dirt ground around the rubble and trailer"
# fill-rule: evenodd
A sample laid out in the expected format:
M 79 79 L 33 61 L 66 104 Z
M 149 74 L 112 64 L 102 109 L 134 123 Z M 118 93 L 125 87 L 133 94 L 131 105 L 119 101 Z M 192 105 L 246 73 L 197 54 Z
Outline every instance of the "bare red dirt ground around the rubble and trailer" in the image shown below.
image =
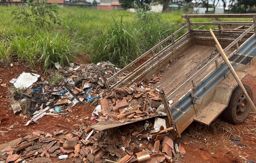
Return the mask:
M 88 62 L 87 62 L 88 63 Z M 93 106 L 86 104 L 72 108 L 73 112 L 67 115 L 51 116 L 45 115 L 38 120 L 37 124 L 29 124 L 24 126 L 30 117 L 22 114 L 14 115 L 10 105 L 10 90 L 11 84 L 9 81 L 12 78 L 17 78 L 20 73 L 33 72 L 43 76 L 42 69 L 32 71 L 26 68 L 24 64 L 13 67 L 0 67 L 0 79 L 2 84 L 7 84 L 7 87 L 0 86 L 0 131 L 8 131 L 6 133 L 0 132 L 0 144 L 19 137 L 25 136 L 34 130 L 43 130 L 52 133 L 53 130 L 79 130 L 80 126 L 86 126 L 89 123 Z M 1 82 L 1 80 L 0 80 Z M 249 85 L 254 92 L 254 104 L 256 104 L 256 80 L 247 76 L 243 83 Z M 220 120 L 217 120 L 220 121 Z M 220 121 L 221 123 L 221 121 Z M 224 123 L 224 122 L 223 122 Z M 218 124 L 218 123 L 217 123 Z M 252 134 L 247 133 L 248 126 L 256 126 L 256 116 L 253 112 L 250 113 L 248 120 L 234 127 L 234 134 L 239 134 L 242 138 L 241 142 L 246 143 L 247 147 L 241 145 L 234 145 L 229 141 L 229 134 L 224 131 L 219 133 L 199 132 L 200 137 L 193 139 L 188 130 L 183 132 L 183 136 L 177 141 L 185 148 L 186 154 L 184 159 L 177 159 L 177 163 L 242 163 L 246 162 L 243 159 L 256 161 L 256 139 Z M 192 123 L 191 127 L 199 126 L 199 123 Z M 251 132 L 252 133 L 252 132 Z M 256 129 L 254 127 L 254 133 Z M 251 139 L 251 140 L 250 140 Z M 187 143 L 187 145 L 185 145 Z M 53 162 L 58 162 L 57 158 Z M 62 163 L 70 163 L 71 159 L 62 161 Z

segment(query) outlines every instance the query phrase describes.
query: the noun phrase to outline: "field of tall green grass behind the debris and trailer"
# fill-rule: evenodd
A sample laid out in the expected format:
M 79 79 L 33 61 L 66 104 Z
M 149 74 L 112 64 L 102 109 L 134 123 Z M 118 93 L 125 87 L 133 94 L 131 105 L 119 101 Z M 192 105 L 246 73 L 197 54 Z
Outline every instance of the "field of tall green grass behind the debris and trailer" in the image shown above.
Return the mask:
M 38 28 L 14 20 L 14 9 L 0 6 L 0 66 L 19 59 L 32 69 L 42 64 L 47 70 L 54 67 L 54 62 L 67 66 L 80 54 L 90 55 L 93 63 L 110 61 L 124 67 L 185 24 L 180 16 L 185 13 L 180 12 L 152 14 L 70 7 L 59 9 L 61 26 Z

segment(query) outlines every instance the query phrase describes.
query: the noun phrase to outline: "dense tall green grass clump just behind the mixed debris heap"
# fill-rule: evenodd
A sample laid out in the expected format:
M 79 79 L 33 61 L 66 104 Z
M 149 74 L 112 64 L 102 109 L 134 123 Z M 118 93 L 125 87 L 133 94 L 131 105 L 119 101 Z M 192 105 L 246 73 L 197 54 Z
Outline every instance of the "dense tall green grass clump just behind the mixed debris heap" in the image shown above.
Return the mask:
M 93 37 L 91 44 L 91 61 L 110 61 L 120 67 L 124 67 L 138 57 L 141 53 L 139 39 L 136 37 L 138 31 L 125 28 L 125 24 L 118 23 L 114 18 L 114 24 L 102 32 L 101 35 Z

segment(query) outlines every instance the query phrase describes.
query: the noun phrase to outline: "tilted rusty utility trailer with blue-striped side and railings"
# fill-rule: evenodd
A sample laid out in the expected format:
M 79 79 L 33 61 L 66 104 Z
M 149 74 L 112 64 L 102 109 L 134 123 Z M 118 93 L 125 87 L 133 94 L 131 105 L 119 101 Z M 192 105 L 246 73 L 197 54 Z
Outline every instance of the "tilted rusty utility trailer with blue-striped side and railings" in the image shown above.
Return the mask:
M 136 81 L 161 72 L 162 80 L 155 87 L 162 84 L 159 88 L 162 102 L 176 137 L 181 137 L 181 133 L 193 121 L 209 126 L 220 114 L 230 123 L 243 123 L 251 107 L 216 50 L 209 28 L 213 29 L 239 79 L 243 80 L 247 75 L 255 77 L 256 68 L 252 65 L 256 62 L 256 14 L 181 17 L 185 18 L 186 24 L 107 79 L 109 82 L 123 72 L 130 72 L 109 89 L 131 86 Z M 214 20 L 196 22 L 197 18 Z M 247 18 L 251 21 L 220 21 L 218 18 Z M 145 63 L 135 66 L 145 58 Z M 252 99 L 251 88 L 245 85 L 245 89 Z M 168 105 L 170 100 L 173 101 L 171 106 Z M 129 123 L 133 122 L 109 125 L 99 122 L 91 127 L 105 130 Z

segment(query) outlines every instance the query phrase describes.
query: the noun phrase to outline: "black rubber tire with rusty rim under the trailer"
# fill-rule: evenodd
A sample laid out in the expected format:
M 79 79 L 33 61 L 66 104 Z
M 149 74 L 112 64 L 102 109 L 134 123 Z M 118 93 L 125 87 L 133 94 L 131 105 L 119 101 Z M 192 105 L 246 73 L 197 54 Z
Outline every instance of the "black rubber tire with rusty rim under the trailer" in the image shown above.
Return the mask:
M 253 99 L 252 89 L 245 84 L 243 85 L 249 97 Z M 250 110 L 251 106 L 249 101 L 245 97 L 245 94 L 243 93 L 243 90 L 240 88 L 240 86 L 237 86 L 231 95 L 229 105 L 222 112 L 221 117 L 229 123 L 241 124 L 248 117 Z

